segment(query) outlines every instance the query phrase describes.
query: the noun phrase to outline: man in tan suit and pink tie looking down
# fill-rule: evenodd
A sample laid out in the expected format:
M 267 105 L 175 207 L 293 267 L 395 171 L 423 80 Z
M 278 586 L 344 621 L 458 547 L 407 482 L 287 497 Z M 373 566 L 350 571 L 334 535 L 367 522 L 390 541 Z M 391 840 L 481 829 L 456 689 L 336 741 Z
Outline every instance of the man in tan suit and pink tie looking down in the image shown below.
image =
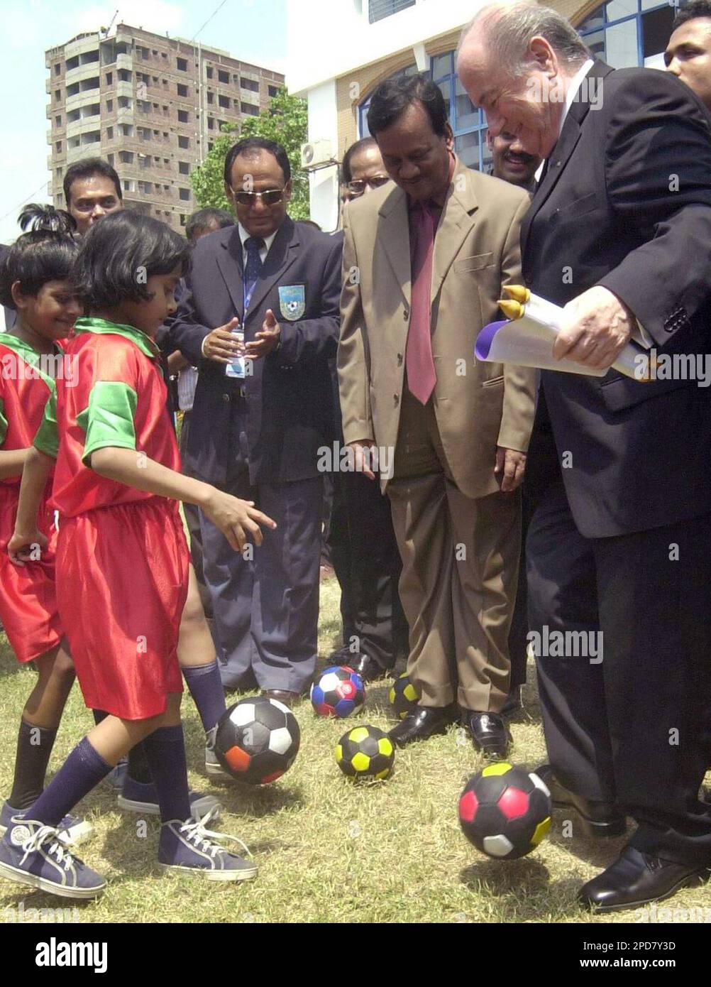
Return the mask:
M 462 165 L 427 76 L 383 83 L 368 124 L 395 186 L 345 210 L 338 377 L 356 469 L 375 478 L 374 448 L 391 466 L 381 484 L 421 693 L 391 737 L 442 732 L 459 702 L 475 746 L 504 756 L 533 374 L 476 363 L 473 346 L 519 280 L 529 196 Z

